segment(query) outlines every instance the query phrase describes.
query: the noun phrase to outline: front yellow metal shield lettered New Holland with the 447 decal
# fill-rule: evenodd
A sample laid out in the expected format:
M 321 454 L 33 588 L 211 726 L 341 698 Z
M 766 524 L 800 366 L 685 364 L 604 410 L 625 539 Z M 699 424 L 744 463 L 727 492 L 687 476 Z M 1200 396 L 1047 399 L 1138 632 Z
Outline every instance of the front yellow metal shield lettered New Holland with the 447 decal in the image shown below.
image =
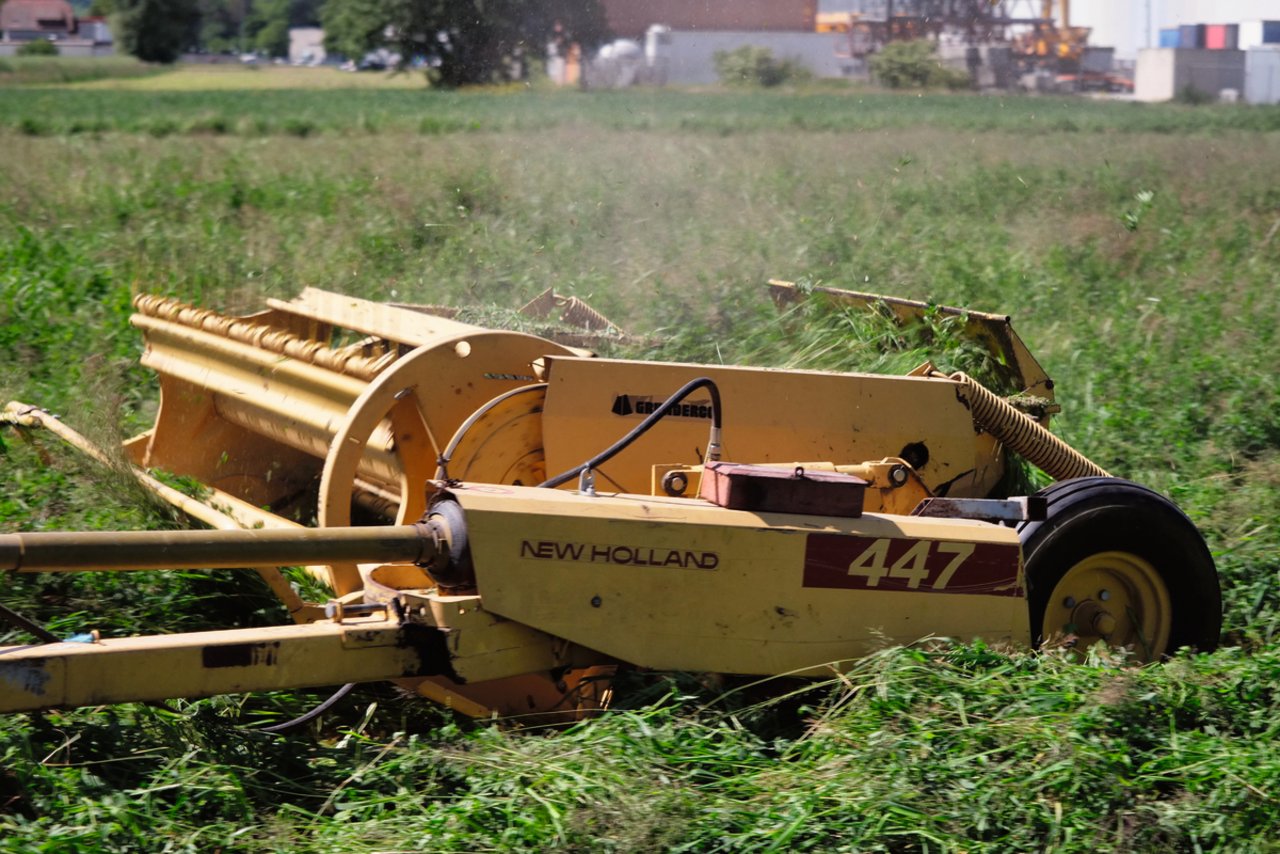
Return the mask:
M 488 612 L 643 667 L 783 673 L 929 635 L 1029 643 L 1007 528 L 513 487 L 454 494 Z

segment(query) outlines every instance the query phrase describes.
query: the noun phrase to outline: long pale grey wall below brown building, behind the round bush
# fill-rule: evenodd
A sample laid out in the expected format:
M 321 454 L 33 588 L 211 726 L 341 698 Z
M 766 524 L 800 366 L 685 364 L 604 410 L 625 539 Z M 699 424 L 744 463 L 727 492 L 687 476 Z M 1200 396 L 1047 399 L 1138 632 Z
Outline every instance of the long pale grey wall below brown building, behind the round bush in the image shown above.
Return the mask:
M 768 47 L 774 59 L 795 60 L 815 77 L 865 73 L 861 60 L 836 54 L 837 47 L 849 46 L 849 37 L 842 33 L 675 31 L 666 51 L 664 79 L 682 86 L 716 83 L 719 81 L 716 73 L 716 51 L 735 50 L 745 45 Z

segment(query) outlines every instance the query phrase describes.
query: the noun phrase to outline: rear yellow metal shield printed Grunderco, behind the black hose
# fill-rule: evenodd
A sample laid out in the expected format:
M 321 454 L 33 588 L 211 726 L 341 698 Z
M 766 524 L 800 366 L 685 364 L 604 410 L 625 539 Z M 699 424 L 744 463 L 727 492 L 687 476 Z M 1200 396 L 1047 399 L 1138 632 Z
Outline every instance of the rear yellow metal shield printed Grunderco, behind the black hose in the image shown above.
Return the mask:
M 934 494 L 974 497 L 987 495 L 1004 472 L 998 444 L 974 430 L 948 380 L 561 356 L 547 361 L 548 474 L 603 451 L 698 376 L 719 388 L 724 460 L 850 463 L 902 457 Z M 648 490 L 655 462 L 703 462 L 710 423 L 709 397 L 690 396 L 599 467 L 602 485 L 640 493 Z

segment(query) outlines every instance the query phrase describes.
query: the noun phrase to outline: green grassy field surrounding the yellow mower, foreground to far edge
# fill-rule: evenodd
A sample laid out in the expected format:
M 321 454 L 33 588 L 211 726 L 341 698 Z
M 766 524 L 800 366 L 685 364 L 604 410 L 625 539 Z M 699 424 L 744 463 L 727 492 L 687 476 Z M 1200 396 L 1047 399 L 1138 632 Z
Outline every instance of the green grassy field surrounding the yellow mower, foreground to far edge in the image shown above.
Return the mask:
M 8 716 L 0 850 L 1276 849 L 1280 109 L 180 74 L 0 88 L 5 399 L 102 442 L 146 426 L 141 291 L 236 312 L 303 286 L 499 307 L 554 286 L 655 342 L 639 357 L 820 369 L 922 342 L 797 332 L 768 278 L 1007 312 L 1056 431 L 1204 533 L 1222 648 L 1139 668 L 932 640 L 772 703 L 634 677 L 552 732 L 378 686 L 288 737 L 243 727 L 316 698 Z M 0 439 L 5 530 L 182 524 Z M 6 579 L 0 602 L 59 634 L 279 617 L 256 579 L 155 575 Z

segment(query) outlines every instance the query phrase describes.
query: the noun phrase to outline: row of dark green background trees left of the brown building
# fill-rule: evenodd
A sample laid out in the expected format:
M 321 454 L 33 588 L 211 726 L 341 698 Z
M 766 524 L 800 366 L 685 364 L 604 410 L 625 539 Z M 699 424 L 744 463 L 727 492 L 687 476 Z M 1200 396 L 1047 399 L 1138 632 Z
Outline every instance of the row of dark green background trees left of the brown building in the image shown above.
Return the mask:
M 548 42 L 591 47 L 609 35 L 599 0 L 95 0 L 90 10 L 143 61 L 287 56 L 291 27 L 323 27 L 332 54 L 385 50 L 442 86 L 518 77 Z

